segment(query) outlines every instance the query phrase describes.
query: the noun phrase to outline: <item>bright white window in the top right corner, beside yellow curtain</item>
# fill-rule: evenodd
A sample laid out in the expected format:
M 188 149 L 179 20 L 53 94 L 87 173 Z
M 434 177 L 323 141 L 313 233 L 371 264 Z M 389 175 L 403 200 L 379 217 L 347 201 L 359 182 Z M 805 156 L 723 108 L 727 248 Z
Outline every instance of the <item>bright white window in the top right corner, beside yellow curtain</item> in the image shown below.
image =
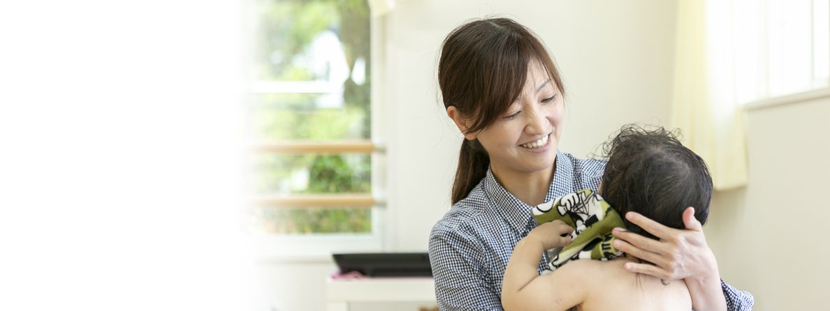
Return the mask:
M 715 76 L 748 103 L 830 87 L 830 0 L 712 1 Z M 730 52 L 723 49 L 729 46 Z M 730 65 L 731 64 L 731 65 Z M 725 73 L 734 70 L 734 75 Z M 716 86 L 715 86 L 716 87 Z

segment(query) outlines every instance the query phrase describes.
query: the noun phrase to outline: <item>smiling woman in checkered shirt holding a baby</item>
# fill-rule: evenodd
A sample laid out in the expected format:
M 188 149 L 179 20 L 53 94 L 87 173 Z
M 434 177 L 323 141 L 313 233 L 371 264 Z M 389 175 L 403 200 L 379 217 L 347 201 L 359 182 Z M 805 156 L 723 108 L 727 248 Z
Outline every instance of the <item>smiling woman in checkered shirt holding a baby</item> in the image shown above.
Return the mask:
M 447 115 L 465 138 L 453 207 L 429 238 L 438 306 L 499 310 L 510 253 L 535 227 L 530 207 L 569 192 L 596 191 L 605 163 L 557 149 L 564 116 L 559 71 L 539 39 L 510 19 L 468 22 L 451 32 L 443 42 L 438 83 Z M 678 230 L 628 213 L 628 221 L 660 240 L 614 231 L 618 250 L 655 264 L 627 263 L 626 270 L 684 279 L 696 309 L 721 301 L 730 310 L 751 309 L 749 293 L 720 280 L 700 223 L 687 214 L 687 229 Z

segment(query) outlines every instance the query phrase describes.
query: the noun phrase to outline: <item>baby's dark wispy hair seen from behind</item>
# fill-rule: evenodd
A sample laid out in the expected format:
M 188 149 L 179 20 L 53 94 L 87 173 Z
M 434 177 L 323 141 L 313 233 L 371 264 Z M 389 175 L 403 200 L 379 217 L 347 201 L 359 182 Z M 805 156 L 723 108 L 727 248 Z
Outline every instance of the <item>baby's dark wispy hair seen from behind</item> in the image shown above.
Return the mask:
M 703 159 L 683 147 L 676 133 L 628 124 L 603 151 L 608 163 L 600 192 L 629 231 L 657 239 L 625 220 L 628 211 L 683 229 L 683 211 L 695 207 L 697 220 L 706 223 L 712 178 Z

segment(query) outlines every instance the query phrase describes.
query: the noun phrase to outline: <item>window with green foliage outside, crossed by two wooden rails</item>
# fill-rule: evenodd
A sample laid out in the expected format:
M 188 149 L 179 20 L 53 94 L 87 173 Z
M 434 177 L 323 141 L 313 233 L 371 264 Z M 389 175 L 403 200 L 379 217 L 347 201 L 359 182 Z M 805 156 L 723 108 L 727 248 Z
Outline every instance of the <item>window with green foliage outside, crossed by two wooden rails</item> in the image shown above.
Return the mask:
M 255 11 L 252 230 L 378 241 L 367 2 L 258 0 Z

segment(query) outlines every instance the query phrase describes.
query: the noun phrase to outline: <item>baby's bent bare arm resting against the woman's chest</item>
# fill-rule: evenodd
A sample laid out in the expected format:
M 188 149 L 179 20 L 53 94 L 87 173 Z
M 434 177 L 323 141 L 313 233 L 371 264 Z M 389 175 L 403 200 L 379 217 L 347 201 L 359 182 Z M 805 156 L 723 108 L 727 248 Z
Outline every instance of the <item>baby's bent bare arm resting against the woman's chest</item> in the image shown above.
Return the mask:
M 566 310 L 582 303 L 583 286 L 565 283 L 579 282 L 579 275 L 573 275 L 567 269 L 556 270 L 550 275 L 539 275 L 538 272 L 544 250 L 568 245 L 570 237 L 561 235 L 571 231 L 574 229 L 562 221 L 545 222 L 516 244 L 501 285 L 501 306 L 505 310 Z

